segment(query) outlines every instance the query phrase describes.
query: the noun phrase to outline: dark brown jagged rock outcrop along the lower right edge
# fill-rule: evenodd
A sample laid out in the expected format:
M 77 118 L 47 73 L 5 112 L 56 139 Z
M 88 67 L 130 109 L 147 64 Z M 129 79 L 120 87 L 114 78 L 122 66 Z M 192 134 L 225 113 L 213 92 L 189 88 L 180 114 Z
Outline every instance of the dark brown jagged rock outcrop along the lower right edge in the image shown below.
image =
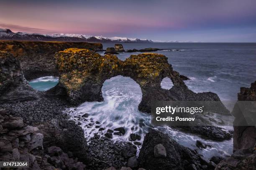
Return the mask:
M 256 101 L 256 81 L 250 88 L 241 87 L 238 93 L 239 101 Z M 235 104 L 231 112 L 235 116 L 234 124 L 245 121 L 243 112 Z M 246 109 L 246 108 L 245 108 Z M 255 105 L 253 110 L 256 110 Z M 252 112 L 253 113 L 253 112 Z M 247 115 L 248 116 L 248 115 Z M 256 128 L 254 126 L 234 126 L 233 150 L 230 158 L 221 161 L 215 170 L 255 170 L 256 169 Z

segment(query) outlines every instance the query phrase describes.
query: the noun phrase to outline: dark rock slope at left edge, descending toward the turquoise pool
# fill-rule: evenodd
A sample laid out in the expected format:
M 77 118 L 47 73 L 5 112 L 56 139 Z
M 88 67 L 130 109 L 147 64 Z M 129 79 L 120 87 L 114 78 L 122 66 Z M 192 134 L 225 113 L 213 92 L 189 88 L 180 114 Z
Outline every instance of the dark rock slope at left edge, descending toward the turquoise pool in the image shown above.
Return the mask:
M 38 92 L 24 78 L 20 62 L 4 51 L 0 51 L 0 94 L 0 103 L 38 98 Z

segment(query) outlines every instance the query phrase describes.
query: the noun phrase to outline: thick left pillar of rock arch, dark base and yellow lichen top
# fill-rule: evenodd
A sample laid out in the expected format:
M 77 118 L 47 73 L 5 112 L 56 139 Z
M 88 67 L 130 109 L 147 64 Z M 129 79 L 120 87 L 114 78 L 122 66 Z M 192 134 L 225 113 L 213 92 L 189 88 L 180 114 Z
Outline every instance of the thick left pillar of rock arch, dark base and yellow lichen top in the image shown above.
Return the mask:
M 122 61 L 115 55 L 101 56 L 91 50 L 69 48 L 55 57 L 60 73 L 58 88 L 67 91 L 72 104 L 102 101 L 103 82 L 121 72 Z

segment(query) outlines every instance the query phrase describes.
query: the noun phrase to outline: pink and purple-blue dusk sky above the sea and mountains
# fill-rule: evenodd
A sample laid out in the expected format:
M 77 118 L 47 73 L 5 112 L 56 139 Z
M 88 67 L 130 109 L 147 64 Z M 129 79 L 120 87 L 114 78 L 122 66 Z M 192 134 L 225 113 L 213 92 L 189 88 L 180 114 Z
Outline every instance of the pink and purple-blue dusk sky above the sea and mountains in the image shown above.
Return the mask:
M 256 0 L 0 0 L 0 28 L 179 42 L 256 42 Z

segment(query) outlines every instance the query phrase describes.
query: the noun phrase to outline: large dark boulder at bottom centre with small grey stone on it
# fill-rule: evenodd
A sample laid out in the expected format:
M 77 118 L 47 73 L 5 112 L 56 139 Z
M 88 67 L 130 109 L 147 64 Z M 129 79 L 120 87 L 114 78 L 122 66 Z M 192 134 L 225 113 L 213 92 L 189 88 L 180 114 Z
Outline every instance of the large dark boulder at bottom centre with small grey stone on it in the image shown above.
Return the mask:
M 161 154 L 155 154 L 155 148 Z M 179 145 L 168 135 L 156 130 L 146 134 L 138 156 L 138 167 L 150 170 L 186 170 L 188 165 L 195 163 L 203 165 L 195 151 Z

